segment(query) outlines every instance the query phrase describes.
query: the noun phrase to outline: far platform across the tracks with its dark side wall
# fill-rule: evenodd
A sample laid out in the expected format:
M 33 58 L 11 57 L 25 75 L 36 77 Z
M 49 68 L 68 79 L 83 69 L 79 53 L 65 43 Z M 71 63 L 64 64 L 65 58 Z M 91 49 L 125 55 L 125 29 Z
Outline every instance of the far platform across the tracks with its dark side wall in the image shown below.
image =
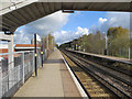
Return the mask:
M 125 75 L 129 75 L 132 77 L 132 62 L 131 61 L 119 61 L 114 59 L 112 57 L 107 57 L 103 55 L 96 55 L 96 54 L 90 54 L 90 53 L 84 53 L 79 51 L 70 51 L 67 50 L 70 53 L 77 54 L 79 56 L 82 56 L 87 58 L 88 61 L 91 61 L 94 63 L 97 63 L 99 65 L 106 66 L 108 68 L 114 69 L 117 72 L 123 73 Z

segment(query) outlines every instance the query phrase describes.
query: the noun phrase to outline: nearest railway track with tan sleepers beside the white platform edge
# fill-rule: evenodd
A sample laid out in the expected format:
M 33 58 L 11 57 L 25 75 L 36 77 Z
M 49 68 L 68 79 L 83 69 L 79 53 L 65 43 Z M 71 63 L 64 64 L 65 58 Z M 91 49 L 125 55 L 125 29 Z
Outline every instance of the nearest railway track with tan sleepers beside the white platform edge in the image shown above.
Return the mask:
M 117 96 L 107 89 L 102 84 L 100 84 L 90 74 L 84 72 L 82 68 L 78 67 L 73 61 L 70 61 L 66 55 L 63 54 L 72 70 L 75 73 L 76 77 L 80 81 L 82 88 L 89 98 L 116 98 Z M 102 87 L 103 86 L 103 87 Z

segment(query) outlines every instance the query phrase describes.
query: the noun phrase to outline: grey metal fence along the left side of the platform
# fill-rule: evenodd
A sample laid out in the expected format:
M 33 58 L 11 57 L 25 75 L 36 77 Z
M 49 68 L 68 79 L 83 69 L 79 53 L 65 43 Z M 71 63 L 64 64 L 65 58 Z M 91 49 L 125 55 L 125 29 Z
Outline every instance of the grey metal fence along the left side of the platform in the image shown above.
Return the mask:
M 34 52 L 15 52 L 14 61 L 9 63 L 10 54 L 0 54 L 0 98 L 12 96 L 34 72 Z M 42 66 L 37 52 L 37 67 Z M 9 66 L 13 66 L 9 69 Z

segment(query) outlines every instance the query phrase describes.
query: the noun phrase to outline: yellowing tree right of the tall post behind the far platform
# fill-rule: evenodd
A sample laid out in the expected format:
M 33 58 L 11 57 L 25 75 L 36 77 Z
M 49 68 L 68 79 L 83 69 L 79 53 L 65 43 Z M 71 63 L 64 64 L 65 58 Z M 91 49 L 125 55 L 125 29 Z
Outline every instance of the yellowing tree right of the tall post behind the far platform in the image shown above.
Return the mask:
M 109 53 L 113 56 L 127 57 L 130 46 L 129 30 L 122 26 L 109 28 L 107 35 L 110 44 Z

